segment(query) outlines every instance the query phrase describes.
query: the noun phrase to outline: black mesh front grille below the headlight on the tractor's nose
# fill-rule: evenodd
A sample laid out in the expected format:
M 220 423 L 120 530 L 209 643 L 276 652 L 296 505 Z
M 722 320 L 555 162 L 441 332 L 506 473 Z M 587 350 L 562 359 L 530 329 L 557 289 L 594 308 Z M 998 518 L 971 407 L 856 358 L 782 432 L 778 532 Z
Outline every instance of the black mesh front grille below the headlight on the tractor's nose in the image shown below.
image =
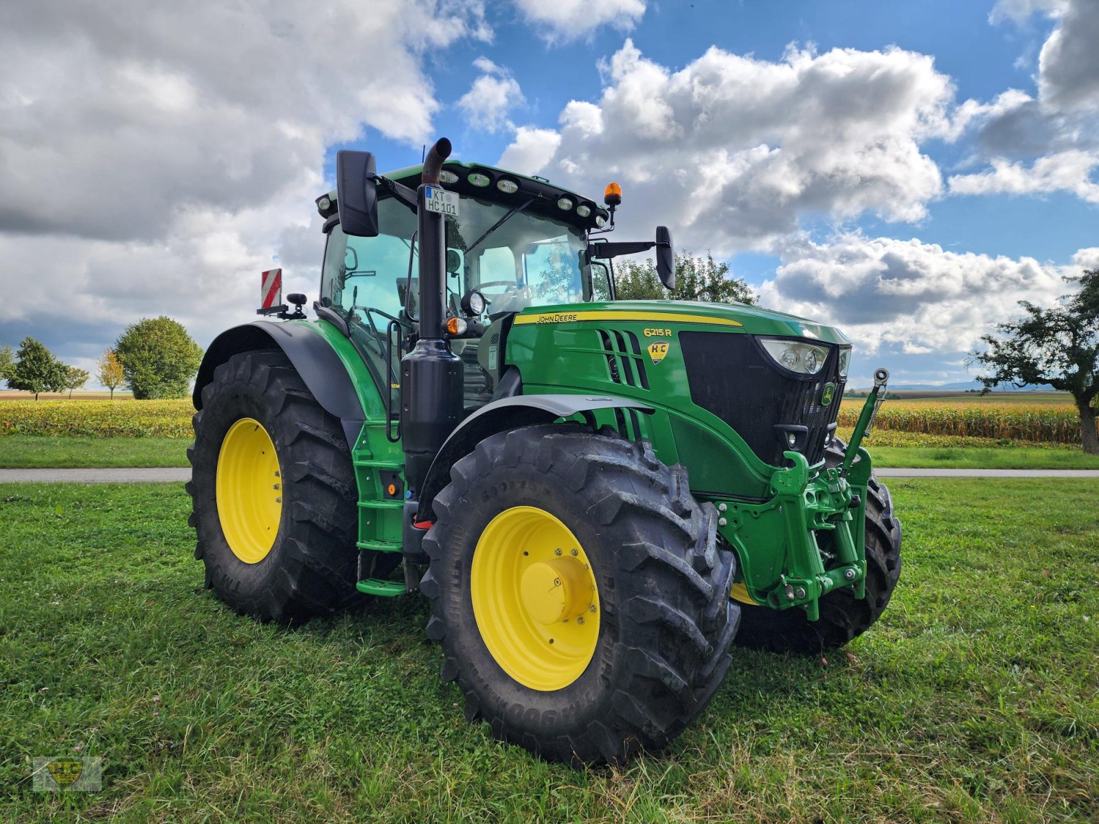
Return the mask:
M 846 382 L 839 376 L 837 347 L 830 347 L 819 374 L 795 376 L 775 364 L 752 335 L 680 332 L 679 345 L 691 401 L 732 426 L 762 460 L 779 466 L 789 448 L 776 434 L 777 424 L 809 430 L 801 452 L 810 464 L 824 456 Z M 828 383 L 835 385 L 835 393 L 823 405 Z

